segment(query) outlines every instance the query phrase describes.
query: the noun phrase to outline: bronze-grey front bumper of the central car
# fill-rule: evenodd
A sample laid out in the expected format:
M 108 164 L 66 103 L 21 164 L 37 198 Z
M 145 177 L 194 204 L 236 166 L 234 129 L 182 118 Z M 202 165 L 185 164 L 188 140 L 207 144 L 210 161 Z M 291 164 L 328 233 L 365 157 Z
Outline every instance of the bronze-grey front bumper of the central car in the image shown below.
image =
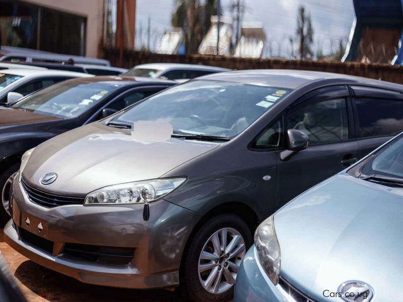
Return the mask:
M 13 249 L 38 264 L 82 282 L 114 287 L 177 286 L 185 243 L 200 218 L 165 200 L 150 204 L 147 221 L 143 219 L 143 205 L 45 208 L 28 199 L 17 179 L 13 183 L 12 202 L 15 225 L 10 220 L 4 234 L 5 242 Z M 53 245 L 51 251 L 20 236 L 24 232 L 21 230 L 25 216 L 46 224 L 45 239 Z M 63 254 L 65 244 L 128 247 L 135 252 L 128 263 L 110 264 L 66 256 Z

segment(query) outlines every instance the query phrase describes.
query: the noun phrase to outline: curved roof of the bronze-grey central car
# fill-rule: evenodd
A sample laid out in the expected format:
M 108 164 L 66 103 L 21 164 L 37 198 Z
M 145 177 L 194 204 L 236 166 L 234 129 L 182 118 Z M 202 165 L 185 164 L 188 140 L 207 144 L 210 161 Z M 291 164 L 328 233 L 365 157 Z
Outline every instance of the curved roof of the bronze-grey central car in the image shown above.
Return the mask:
M 230 72 L 222 72 L 219 74 L 213 73 L 197 78 L 197 80 L 199 79 L 274 86 L 289 89 L 296 89 L 308 83 L 320 80 L 339 79 L 348 80 L 353 84 L 373 85 L 399 91 L 403 90 L 403 85 L 400 84 L 362 78 L 355 75 L 294 69 L 236 70 Z

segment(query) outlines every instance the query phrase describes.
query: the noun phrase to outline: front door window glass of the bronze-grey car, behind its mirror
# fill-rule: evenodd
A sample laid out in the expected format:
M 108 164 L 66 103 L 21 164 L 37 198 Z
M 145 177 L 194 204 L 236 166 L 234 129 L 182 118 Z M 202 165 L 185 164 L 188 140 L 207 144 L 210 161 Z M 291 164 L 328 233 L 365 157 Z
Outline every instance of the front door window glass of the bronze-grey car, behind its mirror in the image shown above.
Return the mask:
M 335 142 L 349 138 L 346 99 L 302 103 L 287 112 L 288 129 L 309 136 L 311 144 Z

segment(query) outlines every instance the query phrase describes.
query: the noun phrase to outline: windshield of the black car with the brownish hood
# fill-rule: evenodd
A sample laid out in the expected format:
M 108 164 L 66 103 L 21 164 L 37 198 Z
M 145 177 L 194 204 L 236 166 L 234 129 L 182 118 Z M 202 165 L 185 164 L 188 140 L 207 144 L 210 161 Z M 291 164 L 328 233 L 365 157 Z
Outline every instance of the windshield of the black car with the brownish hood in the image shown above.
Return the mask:
M 12 105 L 35 113 L 61 118 L 77 117 L 102 102 L 119 86 L 110 83 L 71 80 L 57 83 Z

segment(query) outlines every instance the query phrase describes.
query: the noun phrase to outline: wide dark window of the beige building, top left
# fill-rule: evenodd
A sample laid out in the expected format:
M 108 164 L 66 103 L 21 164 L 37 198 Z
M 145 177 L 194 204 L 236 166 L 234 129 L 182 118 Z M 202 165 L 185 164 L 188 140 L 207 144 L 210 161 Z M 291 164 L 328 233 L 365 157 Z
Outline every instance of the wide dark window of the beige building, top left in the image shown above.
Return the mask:
M 1 45 L 85 55 L 86 18 L 0 0 Z

